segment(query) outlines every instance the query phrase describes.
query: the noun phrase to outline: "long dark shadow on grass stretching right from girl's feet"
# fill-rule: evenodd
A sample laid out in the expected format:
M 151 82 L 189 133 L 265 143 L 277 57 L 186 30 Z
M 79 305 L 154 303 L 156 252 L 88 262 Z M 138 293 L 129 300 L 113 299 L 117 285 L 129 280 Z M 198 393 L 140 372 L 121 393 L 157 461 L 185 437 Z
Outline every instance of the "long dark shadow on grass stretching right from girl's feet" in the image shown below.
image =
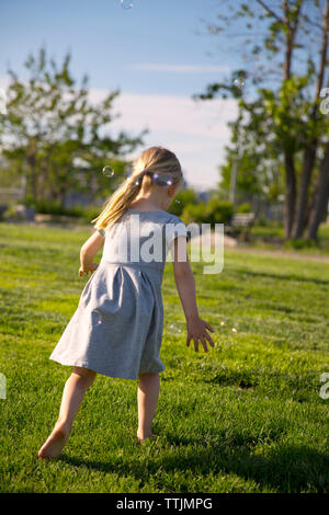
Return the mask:
M 137 456 L 132 453 L 132 457 L 126 459 L 113 454 L 109 461 L 93 461 L 65 454 L 59 459 L 75 467 L 133 476 L 140 481 L 140 488 L 156 474 L 159 488 L 163 489 L 162 473 L 168 484 L 168 474 L 189 470 L 204 478 L 207 474 L 214 478 L 217 473 L 236 474 L 276 492 L 329 492 L 329 456 L 303 445 L 276 446 L 268 449 L 266 454 L 256 455 L 247 445 L 232 448 L 224 444 L 167 436 L 161 438 L 160 444 L 149 442 L 139 447 Z M 183 492 L 189 490 L 182 488 L 179 493 Z

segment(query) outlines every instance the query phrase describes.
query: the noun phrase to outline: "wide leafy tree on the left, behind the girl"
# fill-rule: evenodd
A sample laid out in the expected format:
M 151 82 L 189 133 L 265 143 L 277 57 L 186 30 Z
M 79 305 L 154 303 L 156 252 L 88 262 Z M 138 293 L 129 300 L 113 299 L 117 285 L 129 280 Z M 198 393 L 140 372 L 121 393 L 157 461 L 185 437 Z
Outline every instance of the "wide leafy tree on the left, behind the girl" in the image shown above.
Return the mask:
M 112 103 L 120 94 L 111 92 L 98 105 L 89 100 L 88 77 L 78 87 L 69 71 L 67 54 L 58 67 L 42 48 L 30 55 L 24 66 L 29 80 L 9 70 L 5 114 L 0 116 L 2 158 L 15 162 L 26 173 L 26 195 L 34 202 L 57 201 L 64 204 L 69 191 L 111 192 L 112 184 L 100 171 L 113 163 L 122 176 L 122 157 L 141 145 L 141 133 L 129 138 L 120 133 L 113 139 L 106 133 L 114 119 Z

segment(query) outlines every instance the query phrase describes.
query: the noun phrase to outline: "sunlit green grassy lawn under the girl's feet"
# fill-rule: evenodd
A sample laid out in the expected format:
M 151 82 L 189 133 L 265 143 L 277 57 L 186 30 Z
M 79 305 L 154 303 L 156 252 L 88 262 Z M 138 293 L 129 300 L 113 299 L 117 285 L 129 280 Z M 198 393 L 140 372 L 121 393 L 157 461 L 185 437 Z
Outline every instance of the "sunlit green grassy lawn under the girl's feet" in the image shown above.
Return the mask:
M 329 371 L 328 264 L 234 250 L 218 275 L 192 263 L 200 313 L 216 330 L 208 355 L 185 346 L 166 265 L 167 369 L 154 425 L 162 438 L 139 447 L 137 381 L 99 375 L 63 456 L 37 459 L 70 373 L 48 357 L 88 281 L 78 270 L 89 236 L 0 224 L 0 490 L 329 492 L 329 399 L 319 396 Z

